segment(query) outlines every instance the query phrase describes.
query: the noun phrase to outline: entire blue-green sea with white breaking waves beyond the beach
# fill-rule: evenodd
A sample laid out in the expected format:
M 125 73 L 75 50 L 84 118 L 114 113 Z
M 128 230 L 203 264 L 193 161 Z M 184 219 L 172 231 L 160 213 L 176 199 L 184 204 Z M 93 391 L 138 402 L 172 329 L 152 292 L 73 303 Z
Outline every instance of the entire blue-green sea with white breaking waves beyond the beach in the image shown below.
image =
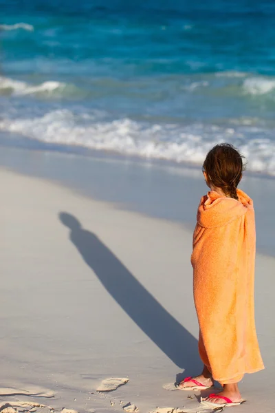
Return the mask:
M 0 0 L 0 144 L 275 176 L 273 0 Z

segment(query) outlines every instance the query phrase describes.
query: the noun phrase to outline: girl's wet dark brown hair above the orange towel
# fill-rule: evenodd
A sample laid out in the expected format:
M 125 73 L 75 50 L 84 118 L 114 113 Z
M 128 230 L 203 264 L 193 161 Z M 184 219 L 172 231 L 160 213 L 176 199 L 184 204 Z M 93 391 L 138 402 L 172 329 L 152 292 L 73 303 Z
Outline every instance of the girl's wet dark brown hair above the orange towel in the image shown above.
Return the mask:
M 233 145 L 221 143 L 214 146 L 203 162 L 203 169 L 214 187 L 221 188 L 225 195 L 238 200 L 236 188 L 241 181 L 244 165 L 243 156 Z

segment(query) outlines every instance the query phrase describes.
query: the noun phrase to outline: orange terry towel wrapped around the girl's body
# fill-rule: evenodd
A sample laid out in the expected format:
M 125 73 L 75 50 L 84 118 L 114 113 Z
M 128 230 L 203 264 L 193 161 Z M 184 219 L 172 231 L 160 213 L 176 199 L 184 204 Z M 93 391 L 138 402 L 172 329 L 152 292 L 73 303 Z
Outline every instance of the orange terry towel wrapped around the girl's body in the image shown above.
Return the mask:
M 215 191 L 201 198 L 191 262 L 199 354 L 221 384 L 264 368 L 254 321 L 255 222 L 252 200 Z

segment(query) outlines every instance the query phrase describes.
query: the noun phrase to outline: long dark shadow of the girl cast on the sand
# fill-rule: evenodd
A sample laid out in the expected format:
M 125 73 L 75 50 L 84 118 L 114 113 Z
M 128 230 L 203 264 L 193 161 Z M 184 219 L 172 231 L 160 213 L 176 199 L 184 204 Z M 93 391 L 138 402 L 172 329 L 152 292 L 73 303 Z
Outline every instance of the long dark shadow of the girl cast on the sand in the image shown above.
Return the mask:
M 94 233 L 83 229 L 69 213 L 60 213 L 59 219 L 70 229 L 69 239 L 83 260 L 135 324 L 173 363 L 185 370 L 184 375 L 198 372 L 201 362 L 197 339 L 159 304 Z M 180 378 L 178 374 L 177 379 Z

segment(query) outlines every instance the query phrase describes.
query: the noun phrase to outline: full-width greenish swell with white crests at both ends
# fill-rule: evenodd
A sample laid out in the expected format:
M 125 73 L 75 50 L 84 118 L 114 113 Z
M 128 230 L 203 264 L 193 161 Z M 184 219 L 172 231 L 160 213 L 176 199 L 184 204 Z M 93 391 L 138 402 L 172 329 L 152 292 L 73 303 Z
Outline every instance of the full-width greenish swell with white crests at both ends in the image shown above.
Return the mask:
M 208 98 L 233 98 L 243 99 L 246 96 L 248 99 L 258 98 L 259 105 L 265 96 L 272 97 L 275 92 L 275 77 L 270 76 L 252 76 L 244 72 L 223 72 L 195 75 L 195 76 L 170 76 L 166 79 L 149 79 L 137 78 L 135 81 L 121 80 L 120 78 L 112 78 L 111 76 L 101 78 L 94 76 L 87 78 L 87 85 L 81 84 L 81 87 L 74 83 L 65 83 L 62 81 L 45 81 L 40 84 L 31 84 L 25 81 L 6 78 L 0 76 L 0 95 L 12 94 L 15 96 L 24 95 L 39 95 L 46 98 L 81 98 L 96 96 L 111 96 L 118 94 L 126 96 L 131 94 L 131 98 L 147 98 L 150 100 L 164 100 L 167 96 L 174 96 L 175 101 L 179 98 L 189 97 L 192 99 L 192 94 L 201 94 Z M 72 81 L 75 79 L 73 78 Z M 156 92 L 157 91 L 157 92 Z M 185 96 L 182 96 L 184 93 Z M 214 102 L 213 102 L 214 103 Z M 273 103 L 272 103 L 273 105 Z

